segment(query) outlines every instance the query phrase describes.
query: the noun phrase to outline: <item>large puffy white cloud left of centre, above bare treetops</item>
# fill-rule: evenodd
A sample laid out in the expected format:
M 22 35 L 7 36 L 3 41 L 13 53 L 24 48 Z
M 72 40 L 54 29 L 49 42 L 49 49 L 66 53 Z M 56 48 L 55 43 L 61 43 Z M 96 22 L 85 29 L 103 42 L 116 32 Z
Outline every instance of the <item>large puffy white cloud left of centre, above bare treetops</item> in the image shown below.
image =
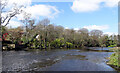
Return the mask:
M 33 18 L 38 18 L 39 16 L 54 18 L 60 11 L 55 6 L 50 5 L 34 5 L 25 8 L 27 13 L 30 13 Z

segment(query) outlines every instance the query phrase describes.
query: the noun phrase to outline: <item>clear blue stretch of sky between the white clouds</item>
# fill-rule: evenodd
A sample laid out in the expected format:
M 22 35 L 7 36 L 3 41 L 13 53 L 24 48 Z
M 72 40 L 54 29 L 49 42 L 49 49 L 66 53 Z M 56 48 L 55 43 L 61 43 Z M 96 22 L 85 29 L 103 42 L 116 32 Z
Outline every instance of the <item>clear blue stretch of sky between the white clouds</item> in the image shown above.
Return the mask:
M 72 2 L 35 2 L 32 5 L 45 4 L 57 7 L 61 12 L 50 19 L 51 23 L 67 28 L 83 28 L 85 26 L 104 26 L 104 32 L 118 32 L 118 7 L 101 7 L 92 12 L 75 13 L 71 10 Z M 104 28 L 104 27 L 103 27 Z M 90 29 L 91 30 L 91 29 Z

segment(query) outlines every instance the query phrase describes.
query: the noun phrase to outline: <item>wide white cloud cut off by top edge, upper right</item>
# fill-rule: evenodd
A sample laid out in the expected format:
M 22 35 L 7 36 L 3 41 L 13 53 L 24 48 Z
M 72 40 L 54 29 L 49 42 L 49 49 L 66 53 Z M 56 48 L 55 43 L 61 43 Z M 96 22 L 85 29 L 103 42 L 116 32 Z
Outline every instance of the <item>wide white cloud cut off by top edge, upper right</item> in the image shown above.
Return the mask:
M 71 9 L 76 13 L 96 11 L 102 6 L 101 3 L 103 6 L 114 7 L 117 6 L 118 0 L 75 0 Z

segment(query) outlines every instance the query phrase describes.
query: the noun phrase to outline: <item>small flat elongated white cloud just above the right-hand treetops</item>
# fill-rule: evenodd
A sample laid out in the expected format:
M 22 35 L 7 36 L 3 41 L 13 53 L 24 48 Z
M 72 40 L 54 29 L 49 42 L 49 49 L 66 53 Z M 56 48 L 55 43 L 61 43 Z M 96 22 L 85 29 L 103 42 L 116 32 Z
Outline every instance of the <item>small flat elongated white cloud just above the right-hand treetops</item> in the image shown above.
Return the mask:
M 87 28 L 89 30 L 94 30 L 94 29 L 97 29 L 97 30 L 106 30 L 106 29 L 109 29 L 109 26 L 108 25 L 89 25 L 89 26 L 84 26 L 83 28 Z

